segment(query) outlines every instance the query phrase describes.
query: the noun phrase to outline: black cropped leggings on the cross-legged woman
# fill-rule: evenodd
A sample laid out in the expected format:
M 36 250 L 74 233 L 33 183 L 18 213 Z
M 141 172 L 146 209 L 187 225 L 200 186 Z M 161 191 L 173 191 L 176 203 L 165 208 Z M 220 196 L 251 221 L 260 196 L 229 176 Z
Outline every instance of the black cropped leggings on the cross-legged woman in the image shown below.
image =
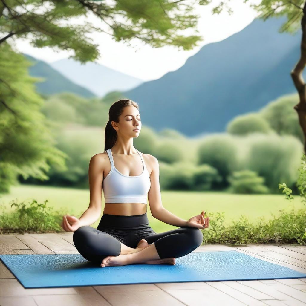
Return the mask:
M 163 233 L 155 233 L 149 225 L 147 213 L 120 216 L 104 214 L 99 226 L 81 226 L 73 233 L 73 243 L 88 261 L 101 264 L 107 256 L 118 256 L 121 243 L 136 248 L 141 239 L 154 242 L 159 258 L 181 257 L 191 253 L 203 241 L 202 231 L 183 226 Z

